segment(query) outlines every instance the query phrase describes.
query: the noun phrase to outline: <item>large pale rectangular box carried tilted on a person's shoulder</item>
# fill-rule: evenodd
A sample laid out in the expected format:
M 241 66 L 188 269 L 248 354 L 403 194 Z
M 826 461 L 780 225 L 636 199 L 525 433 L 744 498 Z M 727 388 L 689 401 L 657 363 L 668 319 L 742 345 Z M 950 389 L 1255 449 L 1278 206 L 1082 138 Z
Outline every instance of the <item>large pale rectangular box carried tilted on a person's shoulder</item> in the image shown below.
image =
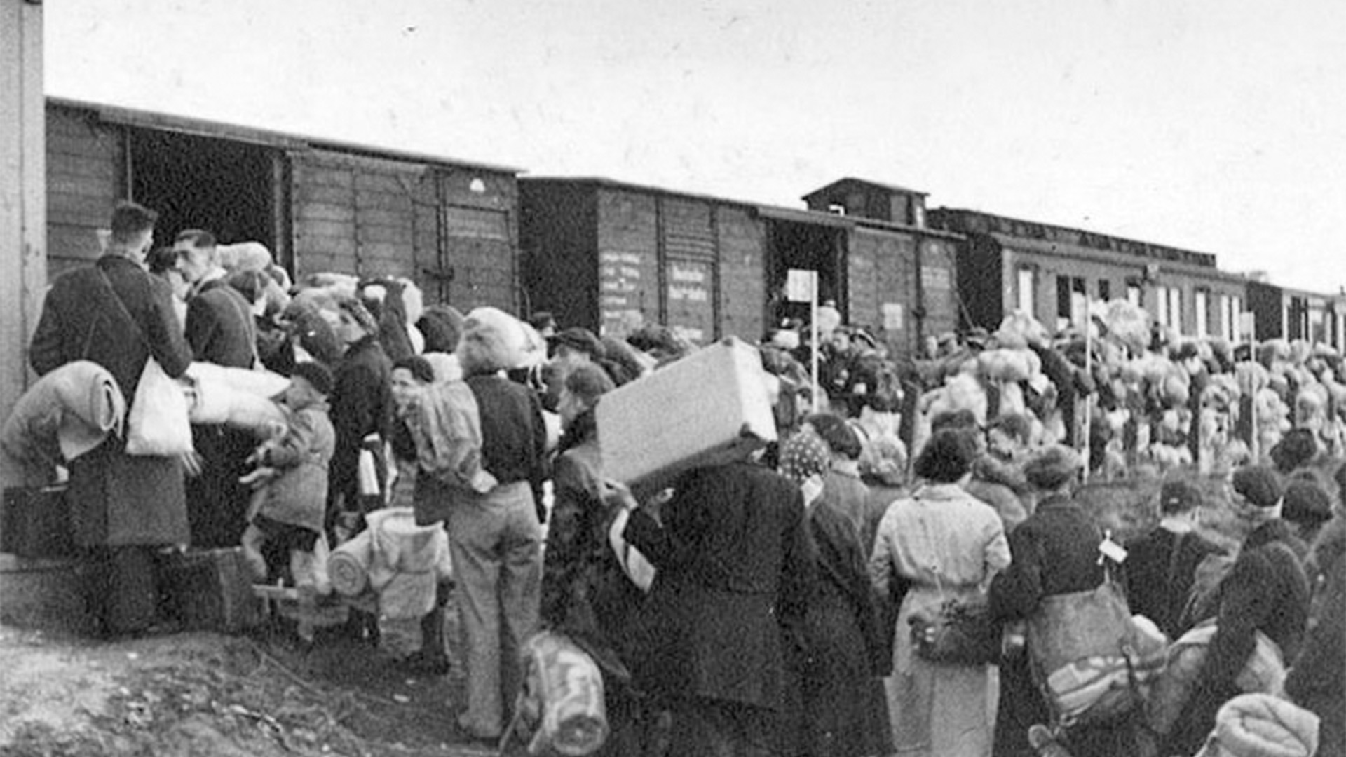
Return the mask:
M 638 496 L 775 440 L 762 357 L 735 337 L 608 392 L 596 416 L 603 475 Z

